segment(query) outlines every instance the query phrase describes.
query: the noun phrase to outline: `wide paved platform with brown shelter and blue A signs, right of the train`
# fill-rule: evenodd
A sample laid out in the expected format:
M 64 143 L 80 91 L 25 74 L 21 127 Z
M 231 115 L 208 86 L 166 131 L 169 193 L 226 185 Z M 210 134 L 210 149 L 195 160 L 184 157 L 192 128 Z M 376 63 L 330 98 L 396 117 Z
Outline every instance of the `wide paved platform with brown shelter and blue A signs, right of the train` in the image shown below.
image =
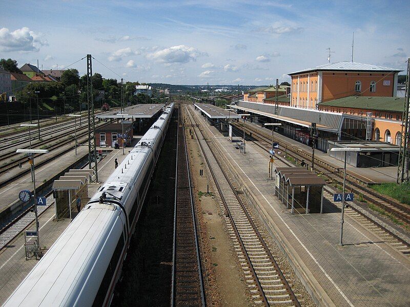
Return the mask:
M 228 137 L 195 113 L 317 302 L 330 306 L 410 304 L 406 256 L 346 215 L 345 245 L 338 246 L 340 211 L 329 200 L 324 214 L 291 214 L 274 195 L 275 181 L 268 179 L 269 154 L 251 142 L 247 142 L 247 153 L 240 153 Z

